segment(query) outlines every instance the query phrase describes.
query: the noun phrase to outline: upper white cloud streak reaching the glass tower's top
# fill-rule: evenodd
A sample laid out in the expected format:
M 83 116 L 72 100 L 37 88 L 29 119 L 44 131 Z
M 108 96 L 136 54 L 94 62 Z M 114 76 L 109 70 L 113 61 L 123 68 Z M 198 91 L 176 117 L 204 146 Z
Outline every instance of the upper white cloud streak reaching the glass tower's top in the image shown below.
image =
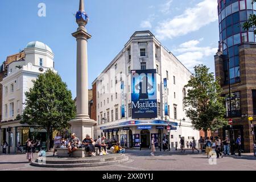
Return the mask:
M 172 39 L 197 31 L 217 19 L 217 1 L 203 0 L 195 7 L 187 8 L 183 14 L 160 22 L 159 26 L 156 27 L 156 36 L 160 40 Z

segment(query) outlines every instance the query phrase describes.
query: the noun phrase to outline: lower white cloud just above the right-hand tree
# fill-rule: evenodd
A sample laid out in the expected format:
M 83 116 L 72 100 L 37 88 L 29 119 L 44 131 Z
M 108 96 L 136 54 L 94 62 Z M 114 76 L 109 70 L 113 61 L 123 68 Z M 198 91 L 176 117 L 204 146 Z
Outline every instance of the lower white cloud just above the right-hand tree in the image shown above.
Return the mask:
M 204 39 L 189 40 L 179 45 L 174 52 L 178 55 L 176 56 L 185 67 L 188 69 L 193 69 L 195 65 L 203 63 L 205 57 L 214 55 L 217 52 L 215 47 L 200 47 L 199 44 Z

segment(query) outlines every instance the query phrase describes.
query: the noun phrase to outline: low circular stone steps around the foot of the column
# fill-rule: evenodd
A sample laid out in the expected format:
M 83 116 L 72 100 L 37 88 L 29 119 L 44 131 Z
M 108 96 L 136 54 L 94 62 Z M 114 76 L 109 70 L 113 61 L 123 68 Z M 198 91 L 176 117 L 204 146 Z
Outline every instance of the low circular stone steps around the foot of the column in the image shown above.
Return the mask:
M 129 158 L 125 154 L 110 154 L 86 158 L 60 158 L 57 156 L 47 156 L 43 160 L 40 158 L 33 160 L 31 166 L 58 168 L 95 167 L 123 163 L 127 160 L 129 160 Z

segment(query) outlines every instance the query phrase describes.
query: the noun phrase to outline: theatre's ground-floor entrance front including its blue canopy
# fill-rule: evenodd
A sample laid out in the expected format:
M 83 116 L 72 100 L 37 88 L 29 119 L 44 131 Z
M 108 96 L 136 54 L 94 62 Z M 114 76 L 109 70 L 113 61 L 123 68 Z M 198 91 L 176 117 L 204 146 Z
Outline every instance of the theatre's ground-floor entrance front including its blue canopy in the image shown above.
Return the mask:
M 117 140 L 123 147 L 148 148 L 154 138 L 159 147 L 165 137 L 168 138 L 167 126 L 177 126 L 176 122 L 163 120 L 135 120 L 103 126 L 100 130 L 107 139 Z

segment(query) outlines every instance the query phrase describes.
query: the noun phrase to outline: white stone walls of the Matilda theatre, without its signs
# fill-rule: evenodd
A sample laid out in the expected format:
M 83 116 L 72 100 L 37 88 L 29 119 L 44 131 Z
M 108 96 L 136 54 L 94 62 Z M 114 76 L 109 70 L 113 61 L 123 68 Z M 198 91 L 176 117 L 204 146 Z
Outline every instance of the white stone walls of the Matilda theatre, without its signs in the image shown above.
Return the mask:
M 133 147 L 132 144 L 130 144 L 134 143 L 132 141 L 134 140 L 132 139 L 132 134 L 141 134 L 141 130 L 137 130 L 135 125 L 127 125 L 127 127 L 130 127 L 130 131 L 123 130 L 123 127 L 126 126 L 122 125 L 124 122 L 134 121 L 130 114 L 130 70 L 135 69 L 156 69 L 157 71 L 158 118 L 139 118 L 140 121 L 148 121 L 147 125 L 152 126 L 148 131 L 151 134 L 159 134 L 159 139 L 161 140 L 163 136 L 166 135 L 170 145 L 174 147 L 175 142 L 177 142 L 177 147 L 180 146 L 180 137 L 184 137 L 185 142 L 187 142 L 187 140 L 190 141 L 191 137 L 195 137 L 195 139 L 198 140 L 199 131 L 192 129 L 191 122 L 189 118 L 185 116 L 183 107 L 183 97 L 186 93 L 184 85 L 187 84 L 191 72 L 189 72 L 171 52 L 167 51 L 150 31 L 135 32 L 129 42 L 125 44 L 125 48 L 123 48 L 108 67 L 105 68 L 102 74 L 94 80 L 93 84 L 96 84 L 97 88 L 97 126 L 94 129 L 94 136 L 99 137 L 106 135 L 107 138 L 115 138 L 122 143 L 121 135 L 123 134 L 124 137 L 126 135 L 127 146 Z M 169 115 L 167 116 L 164 116 L 163 110 L 163 78 L 167 78 L 167 97 L 168 106 L 170 108 Z M 126 92 L 125 117 L 123 118 L 121 118 L 121 81 L 124 81 Z M 102 118 L 106 119 L 106 121 L 102 121 Z M 166 122 L 166 124 L 158 125 L 154 123 L 156 120 Z M 178 125 L 175 126 L 177 130 L 171 130 L 169 133 L 167 129 L 158 130 L 155 127 L 166 127 L 168 126 L 168 122 L 176 123 L 176 125 Z M 103 129 L 110 129 L 110 131 L 105 133 Z M 112 131 L 112 129 L 118 129 L 118 131 Z M 142 135 L 144 136 L 143 132 Z M 142 140 L 145 139 L 141 137 L 141 142 L 144 142 Z M 146 140 L 146 145 L 148 145 L 148 136 Z

